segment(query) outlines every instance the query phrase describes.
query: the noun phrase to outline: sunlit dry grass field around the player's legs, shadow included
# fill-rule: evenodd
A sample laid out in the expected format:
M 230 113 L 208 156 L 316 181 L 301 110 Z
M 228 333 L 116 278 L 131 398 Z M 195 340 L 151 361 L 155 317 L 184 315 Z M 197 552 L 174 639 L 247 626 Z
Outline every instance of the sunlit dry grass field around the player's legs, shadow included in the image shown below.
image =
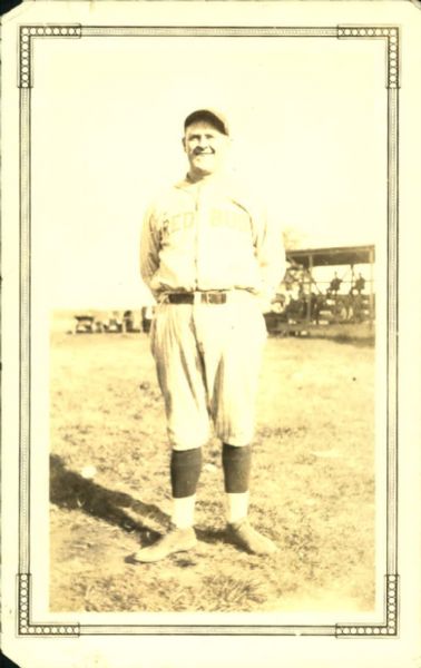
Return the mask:
M 374 606 L 374 350 L 270 338 L 251 519 L 280 551 L 224 542 L 210 440 L 198 548 L 133 564 L 169 521 L 164 407 L 145 334 L 51 335 L 53 611 L 365 611 Z M 95 466 L 89 477 L 87 466 Z

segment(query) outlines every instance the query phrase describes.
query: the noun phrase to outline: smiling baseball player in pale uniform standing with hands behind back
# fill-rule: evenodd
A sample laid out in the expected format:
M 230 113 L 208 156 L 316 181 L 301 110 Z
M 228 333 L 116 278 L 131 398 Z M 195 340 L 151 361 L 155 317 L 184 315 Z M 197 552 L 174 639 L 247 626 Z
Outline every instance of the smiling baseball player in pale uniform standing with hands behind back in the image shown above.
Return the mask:
M 172 445 L 172 528 L 136 561 L 194 548 L 194 509 L 209 418 L 221 439 L 227 540 L 243 550 L 276 550 L 248 519 L 254 405 L 266 327 L 263 311 L 283 277 L 281 230 L 249 193 L 224 175 L 225 117 L 192 112 L 183 146 L 189 170 L 144 220 L 141 276 L 157 301 L 150 346 Z

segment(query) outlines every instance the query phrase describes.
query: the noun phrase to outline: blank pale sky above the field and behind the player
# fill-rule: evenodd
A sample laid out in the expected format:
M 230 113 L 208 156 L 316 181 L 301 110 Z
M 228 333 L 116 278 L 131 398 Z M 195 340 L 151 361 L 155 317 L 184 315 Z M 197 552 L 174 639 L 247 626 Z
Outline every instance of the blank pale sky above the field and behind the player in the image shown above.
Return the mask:
M 204 106 L 229 119 L 236 177 L 303 247 L 384 245 L 382 42 L 37 40 L 32 285 L 49 307 L 147 303 L 143 215 L 186 173 L 183 121 Z

